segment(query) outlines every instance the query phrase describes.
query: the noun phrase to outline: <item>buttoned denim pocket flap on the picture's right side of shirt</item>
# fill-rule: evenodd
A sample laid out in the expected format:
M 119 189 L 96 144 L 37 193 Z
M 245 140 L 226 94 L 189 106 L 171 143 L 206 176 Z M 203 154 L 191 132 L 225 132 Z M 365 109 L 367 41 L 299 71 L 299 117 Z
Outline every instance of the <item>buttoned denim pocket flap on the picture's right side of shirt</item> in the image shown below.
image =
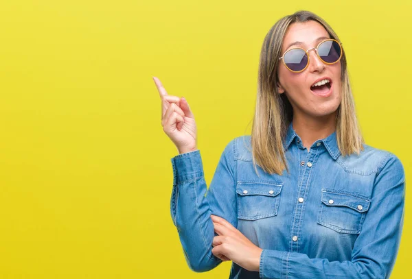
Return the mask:
M 327 206 L 347 206 L 360 213 L 364 213 L 369 209 L 370 199 L 354 193 L 322 189 L 322 202 Z

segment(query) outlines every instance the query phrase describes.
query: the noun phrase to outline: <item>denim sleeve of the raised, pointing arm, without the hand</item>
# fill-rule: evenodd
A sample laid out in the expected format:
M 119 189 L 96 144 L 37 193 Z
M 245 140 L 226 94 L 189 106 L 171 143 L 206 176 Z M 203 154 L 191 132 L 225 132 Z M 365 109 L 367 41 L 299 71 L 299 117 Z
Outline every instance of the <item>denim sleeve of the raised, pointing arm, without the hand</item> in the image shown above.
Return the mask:
M 211 214 L 231 220 L 237 226 L 233 139 L 222 152 L 209 189 L 203 173 L 201 151 L 172 158 L 173 189 L 170 199 L 172 221 L 187 265 L 196 272 L 213 269 L 222 260 L 211 253 L 214 232 Z

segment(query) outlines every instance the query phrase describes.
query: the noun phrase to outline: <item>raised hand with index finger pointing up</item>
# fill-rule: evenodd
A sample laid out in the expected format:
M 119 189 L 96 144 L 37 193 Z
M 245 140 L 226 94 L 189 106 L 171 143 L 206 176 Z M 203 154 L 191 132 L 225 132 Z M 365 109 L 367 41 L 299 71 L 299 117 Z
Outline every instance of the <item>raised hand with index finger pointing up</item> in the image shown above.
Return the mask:
M 196 123 L 186 99 L 168 95 L 160 80 L 157 77 L 153 80 L 161 99 L 163 131 L 176 145 L 179 154 L 196 150 Z

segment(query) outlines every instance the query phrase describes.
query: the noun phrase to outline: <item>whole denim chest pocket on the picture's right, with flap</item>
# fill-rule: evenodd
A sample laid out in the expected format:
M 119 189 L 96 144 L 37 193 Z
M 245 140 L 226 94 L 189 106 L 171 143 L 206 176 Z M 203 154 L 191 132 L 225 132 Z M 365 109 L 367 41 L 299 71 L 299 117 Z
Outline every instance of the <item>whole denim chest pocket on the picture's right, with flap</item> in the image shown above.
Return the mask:
M 361 233 L 370 199 L 345 191 L 322 189 L 317 223 L 336 232 Z

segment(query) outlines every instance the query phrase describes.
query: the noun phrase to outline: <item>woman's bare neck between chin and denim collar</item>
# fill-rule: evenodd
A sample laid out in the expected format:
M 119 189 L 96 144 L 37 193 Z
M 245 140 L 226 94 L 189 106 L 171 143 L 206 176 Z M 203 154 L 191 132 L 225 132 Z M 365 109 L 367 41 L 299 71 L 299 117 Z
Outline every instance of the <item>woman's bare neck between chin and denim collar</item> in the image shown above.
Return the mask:
M 302 144 L 309 151 L 317 140 L 326 138 L 336 129 L 336 112 L 325 117 L 309 117 L 308 115 L 293 115 L 293 130 L 301 138 Z

